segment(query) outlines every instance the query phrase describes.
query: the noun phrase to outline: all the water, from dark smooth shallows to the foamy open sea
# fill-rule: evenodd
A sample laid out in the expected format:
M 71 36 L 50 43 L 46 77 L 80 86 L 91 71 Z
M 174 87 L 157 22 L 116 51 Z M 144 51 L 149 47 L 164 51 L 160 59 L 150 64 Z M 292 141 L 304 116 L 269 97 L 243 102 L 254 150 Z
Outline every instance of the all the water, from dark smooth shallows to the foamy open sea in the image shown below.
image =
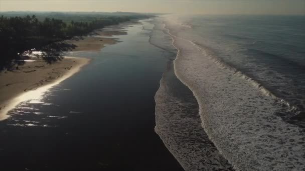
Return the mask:
M 5 170 L 305 170 L 305 17 L 163 15 L 0 122 Z M 35 92 L 35 91 L 33 91 Z

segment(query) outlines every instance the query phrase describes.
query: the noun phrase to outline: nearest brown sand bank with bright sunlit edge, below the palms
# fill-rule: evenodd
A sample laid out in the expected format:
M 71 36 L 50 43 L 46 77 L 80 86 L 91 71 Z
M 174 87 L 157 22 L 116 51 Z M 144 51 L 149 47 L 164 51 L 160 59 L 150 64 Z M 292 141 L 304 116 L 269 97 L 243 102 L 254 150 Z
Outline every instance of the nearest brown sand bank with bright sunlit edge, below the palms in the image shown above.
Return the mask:
M 52 86 L 78 72 L 90 59 L 84 57 L 64 57 L 48 64 L 39 58 L 32 58 L 18 69 L 0 72 L 0 120 L 18 103 L 39 97 Z

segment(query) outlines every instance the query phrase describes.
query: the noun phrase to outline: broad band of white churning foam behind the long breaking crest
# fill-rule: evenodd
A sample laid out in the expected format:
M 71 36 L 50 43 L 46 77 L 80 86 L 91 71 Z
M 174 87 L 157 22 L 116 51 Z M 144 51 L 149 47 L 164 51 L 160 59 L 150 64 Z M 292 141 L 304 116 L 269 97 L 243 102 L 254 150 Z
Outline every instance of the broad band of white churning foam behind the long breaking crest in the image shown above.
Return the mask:
M 173 35 L 177 24 L 164 19 L 178 49 L 175 74 L 194 93 L 202 127 L 236 170 L 300 170 L 305 133 L 276 115 L 295 107 L 259 82 L 211 55 L 191 40 Z M 279 105 L 282 104 L 282 105 Z

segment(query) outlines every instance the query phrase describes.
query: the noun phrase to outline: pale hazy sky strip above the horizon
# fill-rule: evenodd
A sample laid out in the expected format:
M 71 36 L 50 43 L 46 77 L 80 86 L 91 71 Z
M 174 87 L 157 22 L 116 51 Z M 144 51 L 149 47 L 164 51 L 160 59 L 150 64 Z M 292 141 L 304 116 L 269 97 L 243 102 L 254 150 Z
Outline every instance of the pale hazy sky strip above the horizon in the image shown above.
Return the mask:
M 302 14 L 305 0 L 0 0 L 0 11 Z

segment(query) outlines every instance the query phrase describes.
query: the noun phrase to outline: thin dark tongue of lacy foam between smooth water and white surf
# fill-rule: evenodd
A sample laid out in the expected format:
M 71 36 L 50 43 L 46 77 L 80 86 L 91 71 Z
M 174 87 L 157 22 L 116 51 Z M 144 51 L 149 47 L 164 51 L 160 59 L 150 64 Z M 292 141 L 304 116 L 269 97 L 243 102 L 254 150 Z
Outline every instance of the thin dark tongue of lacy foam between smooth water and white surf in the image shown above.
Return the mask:
M 233 170 L 201 127 L 193 93 L 168 64 L 156 96 L 155 131 L 185 170 Z

